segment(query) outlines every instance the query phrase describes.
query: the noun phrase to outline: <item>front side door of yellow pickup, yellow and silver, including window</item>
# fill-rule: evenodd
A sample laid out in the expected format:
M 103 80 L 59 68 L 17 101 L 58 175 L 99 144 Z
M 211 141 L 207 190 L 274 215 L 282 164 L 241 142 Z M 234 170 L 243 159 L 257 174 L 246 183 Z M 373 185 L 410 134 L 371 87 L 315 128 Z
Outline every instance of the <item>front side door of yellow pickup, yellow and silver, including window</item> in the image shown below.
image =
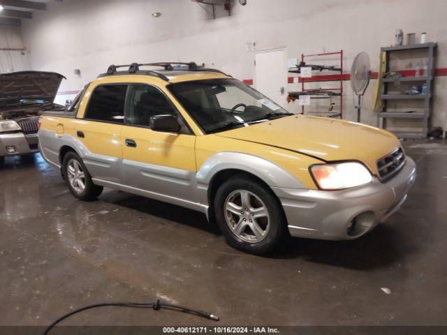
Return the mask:
M 175 115 L 180 133 L 152 131 L 149 119 L 159 114 Z M 126 185 L 193 200 L 196 136 L 163 91 L 149 84 L 130 85 L 121 139 Z

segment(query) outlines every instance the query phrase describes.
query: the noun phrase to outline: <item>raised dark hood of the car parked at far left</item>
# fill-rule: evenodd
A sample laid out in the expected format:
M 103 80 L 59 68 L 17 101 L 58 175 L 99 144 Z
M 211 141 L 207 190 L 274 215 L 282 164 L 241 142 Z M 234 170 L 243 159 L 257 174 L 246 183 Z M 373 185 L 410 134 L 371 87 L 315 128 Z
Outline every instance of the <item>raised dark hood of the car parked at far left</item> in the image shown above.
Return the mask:
M 53 102 L 63 75 L 54 72 L 20 71 L 0 74 L 0 105 L 20 100 Z

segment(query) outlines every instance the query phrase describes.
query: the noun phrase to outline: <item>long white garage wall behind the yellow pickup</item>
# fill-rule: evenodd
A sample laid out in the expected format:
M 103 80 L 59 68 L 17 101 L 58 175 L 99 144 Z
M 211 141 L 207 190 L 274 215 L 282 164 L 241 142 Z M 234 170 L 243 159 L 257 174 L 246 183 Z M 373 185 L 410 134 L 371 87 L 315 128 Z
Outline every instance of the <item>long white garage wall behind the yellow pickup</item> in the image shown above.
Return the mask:
M 66 75 L 61 86 L 65 92 L 77 91 L 109 64 L 133 61 L 194 60 L 251 79 L 253 55 L 246 51 L 251 41 L 258 49 L 286 46 L 289 58 L 343 49 L 346 72 L 353 57 L 365 51 L 377 70 L 379 49 L 394 43 L 398 28 L 417 36 L 425 31 L 429 40 L 439 43 L 437 67 L 447 67 L 445 0 L 248 0 L 247 6 L 237 1 L 234 5 L 230 17 L 220 11 L 212 20 L 189 0 L 54 1 L 23 23 L 22 36 L 31 67 Z M 162 16 L 154 18 L 154 12 Z M 402 66 L 414 64 L 414 59 L 405 59 Z M 75 68 L 80 76 L 73 74 Z M 374 83 L 367 91 L 362 119 L 373 125 Z M 353 120 L 349 82 L 345 88 L 345 118 Z M 447 101 L 441 94 L 446 88 L 447 77 L 437 77 L 435 126 L 446 126 Z M 298 87 L 289 84 L 288 89 Z

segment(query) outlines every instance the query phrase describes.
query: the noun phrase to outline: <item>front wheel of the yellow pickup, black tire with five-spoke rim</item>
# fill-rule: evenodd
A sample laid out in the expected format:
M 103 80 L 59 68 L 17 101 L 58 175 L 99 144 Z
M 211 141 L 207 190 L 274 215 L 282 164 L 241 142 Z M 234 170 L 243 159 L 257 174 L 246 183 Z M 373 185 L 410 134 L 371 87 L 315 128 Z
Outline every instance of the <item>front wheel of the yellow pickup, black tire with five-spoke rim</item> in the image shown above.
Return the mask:
M 256 179 L 240 175 L 223 183 L 214 197 L 214 211 L 227 243 L 241 251 L 270 253 L 288 236 L 281 203 Z

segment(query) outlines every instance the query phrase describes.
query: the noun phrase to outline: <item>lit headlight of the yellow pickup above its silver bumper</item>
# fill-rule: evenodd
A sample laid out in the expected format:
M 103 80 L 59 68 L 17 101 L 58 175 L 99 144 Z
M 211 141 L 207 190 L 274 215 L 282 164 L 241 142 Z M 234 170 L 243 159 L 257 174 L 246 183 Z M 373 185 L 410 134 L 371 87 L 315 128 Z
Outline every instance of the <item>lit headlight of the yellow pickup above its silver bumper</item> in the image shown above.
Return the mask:
M 356 162 L 313 165 L 310 170 L 322 190 L 340 190 L 372 181 L 372 175 L 367 168 Z

